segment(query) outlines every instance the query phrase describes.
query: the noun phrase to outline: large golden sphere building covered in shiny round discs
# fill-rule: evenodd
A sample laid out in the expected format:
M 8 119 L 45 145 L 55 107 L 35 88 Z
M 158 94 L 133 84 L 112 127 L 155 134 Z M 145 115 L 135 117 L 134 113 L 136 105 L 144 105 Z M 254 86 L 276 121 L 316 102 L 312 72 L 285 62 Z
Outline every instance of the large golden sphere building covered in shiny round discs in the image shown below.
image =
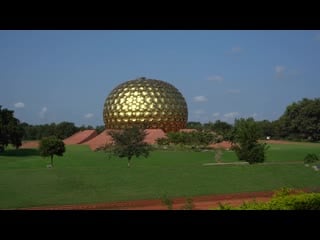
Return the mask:
M 175 132 L 186 127 L 188 108 L 183 95 L 172 84 L 138 78 L 111 91 L 104 103 L 103 120 L 107 129 L 136 125 Z

